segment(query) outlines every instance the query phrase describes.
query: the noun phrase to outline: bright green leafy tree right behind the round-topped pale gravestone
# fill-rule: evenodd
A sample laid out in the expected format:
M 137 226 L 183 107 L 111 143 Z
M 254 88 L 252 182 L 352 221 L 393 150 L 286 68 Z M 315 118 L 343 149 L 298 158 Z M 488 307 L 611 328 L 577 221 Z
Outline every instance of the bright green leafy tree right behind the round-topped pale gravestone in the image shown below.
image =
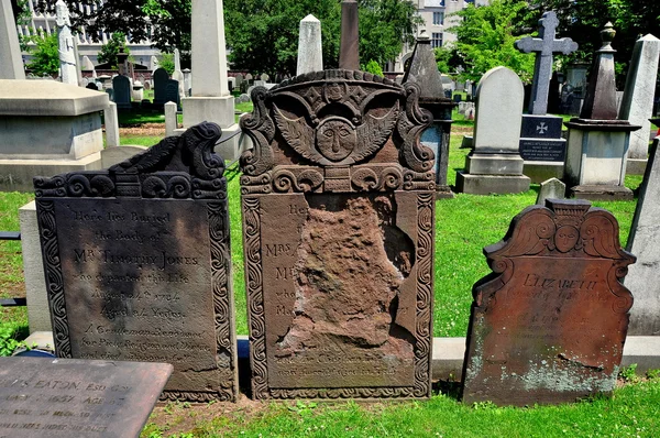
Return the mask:
M 479 80 L 484 73 L 497 66 L 516 72 L 530 83 L 534 75 L 534 56 L 518 52 L 516 40 L 525 35 L 514 33 L 516 19 L 527 7 L 524 1 L 494 0 L 491 4 L 469 6 L 457 14 L 462 21 L 448 30 L 455 33 L 457 50 L 465 65 L 463 79 Z

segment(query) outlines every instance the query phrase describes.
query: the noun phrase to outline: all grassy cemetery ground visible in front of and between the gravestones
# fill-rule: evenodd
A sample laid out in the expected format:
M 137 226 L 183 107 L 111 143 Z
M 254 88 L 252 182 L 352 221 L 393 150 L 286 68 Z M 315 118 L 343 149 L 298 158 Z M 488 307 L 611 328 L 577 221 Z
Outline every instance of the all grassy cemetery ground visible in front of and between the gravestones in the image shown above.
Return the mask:
M 241 108 L 248 111 L 250 108 Z M 136 114 L 133 114 L 136 116 Z M 132 117 L 133 117 L 132 116 Z M 134 117 L 133 136 L 122 144 L 155 144 L 164 134 L 163 122 L 152 116 Z M 457 119 L 459 119 L 457 117 Z M 124 123 L 124 122 L 122 122 Z M 147 123 L 146 125 L 144 123 Z M 470 121 L 457 121 L 452 129 L 448 180 L 463 168 L 469 150 L 460 149 Z M 133 123 L 127 123 L 133 124 Z M 133 129 L 133 128 L 131 128 Z M 152 131 L 153 130 L 153 131 Z M 154 133 L 158 131 L 160 133 Z M 127 131 L 130 132 L 130 131 Z M 125 132 L 124 132 L 125 133 Z M 227 172 L 231 220 L 233 287 L 237 299 L 237 329 L 248 333 L 243 250 L 240 211 L 240 174 L 237 165 Z M 637 189 L 641 176 L 628 176 L 626 186 Z M 436 298 L 433 336 L 464 337 L 468 331 L 472 285 L 490 273 L 482 249 L 499 241 L 515 215 L 535 204 L 538 185 L 520 195 L 475 196 L 458 194 L 436 202 Z M 0 194 L 0 230 L 18 230 L 18 208 L 33 199 L 30 194 Z M 625 247 L 636 201 L 594 202 L 612 211 L 620 225 Z M 0 295 L 24 296 L 20 242 L 0 242 Z M 15 339 L 26 335 L 25 308 L 4 308 L 0 314 L 0 354 L 8 354 Z M 243 392 L 249 376 L 242 382 Z M 501 408 L 490 403 L 465 406 L 457 402 L 459 386 L 435 386 L 429 402 L 252 402 L 157 406 L 143 431 L 161 436 L 318 436 L 318 437 L 653 437 L 660 436 L 660 375 L 640 379 L 634 369 L 622 373 L 613 398 L 596 397 L 573 405 Z

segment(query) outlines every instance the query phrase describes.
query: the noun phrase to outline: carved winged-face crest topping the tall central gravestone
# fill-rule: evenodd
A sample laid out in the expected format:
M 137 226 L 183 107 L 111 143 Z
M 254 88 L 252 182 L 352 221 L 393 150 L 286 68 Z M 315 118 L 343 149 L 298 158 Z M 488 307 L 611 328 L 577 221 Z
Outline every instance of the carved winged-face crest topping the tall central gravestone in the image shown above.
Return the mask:
M 432 122 L 419 88 L 353 70 L 297 76 L 252 91 L 241 119 L 243 194 L 433 189 Z

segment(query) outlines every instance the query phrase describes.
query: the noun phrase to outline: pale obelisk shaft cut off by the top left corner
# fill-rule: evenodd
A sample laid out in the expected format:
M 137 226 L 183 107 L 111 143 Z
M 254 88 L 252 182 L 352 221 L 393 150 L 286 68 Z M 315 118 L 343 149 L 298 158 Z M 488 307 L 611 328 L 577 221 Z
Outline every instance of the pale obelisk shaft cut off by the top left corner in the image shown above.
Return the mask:
M 0 79 L 25 79 L 10 0 L 0 0 Z

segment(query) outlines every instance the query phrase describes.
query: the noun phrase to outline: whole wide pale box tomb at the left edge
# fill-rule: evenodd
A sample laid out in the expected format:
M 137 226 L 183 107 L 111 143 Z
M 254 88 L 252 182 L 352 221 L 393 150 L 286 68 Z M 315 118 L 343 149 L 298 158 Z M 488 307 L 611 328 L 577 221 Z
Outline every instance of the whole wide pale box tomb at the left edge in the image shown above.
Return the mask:
M 34 176 L 101 168 L 108 95 L 52 80 L 0 80 L 0 190 Z

